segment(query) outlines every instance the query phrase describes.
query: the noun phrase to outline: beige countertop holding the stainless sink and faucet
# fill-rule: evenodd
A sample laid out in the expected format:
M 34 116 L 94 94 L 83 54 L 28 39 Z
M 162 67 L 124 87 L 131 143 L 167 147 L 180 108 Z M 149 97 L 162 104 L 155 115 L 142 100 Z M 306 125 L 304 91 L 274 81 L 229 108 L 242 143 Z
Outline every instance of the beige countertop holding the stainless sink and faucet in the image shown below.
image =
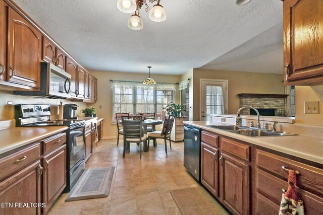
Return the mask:
M 323 164 L 323 138 L 305 135 L 250 137 L 207 126 L 231 125 L 223 122 L 184 121 L 184 124 L 216 132 L 245 142 L 249 142 L 250 144 L 254 144 L 256 146 L 275 150 L 277 152 L 299 157 L 308 161 Z

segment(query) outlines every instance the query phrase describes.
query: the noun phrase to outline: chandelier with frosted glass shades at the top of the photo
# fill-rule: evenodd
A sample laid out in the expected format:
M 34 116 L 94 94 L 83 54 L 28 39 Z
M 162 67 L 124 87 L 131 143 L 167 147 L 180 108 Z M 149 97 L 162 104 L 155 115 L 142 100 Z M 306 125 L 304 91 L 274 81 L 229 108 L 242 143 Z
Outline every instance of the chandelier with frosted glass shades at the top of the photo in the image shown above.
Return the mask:
M 128 20 L 128 27 L 133 30 L 140 30 L 143 28 L 143 22 L 140 18 L 139 10 L 145 4 L 145 11 L 150 10 L 146 1 L 148 0 L 118 0 L 117 7 L 123 13 L 134 13 Z M 157 2 L 149 11 L 149 19 L 154 22 L 163 22 L 166 20 L 166 11 L 163 6 L 159 5 L 160 0 L 149 0 L 150 3 Z

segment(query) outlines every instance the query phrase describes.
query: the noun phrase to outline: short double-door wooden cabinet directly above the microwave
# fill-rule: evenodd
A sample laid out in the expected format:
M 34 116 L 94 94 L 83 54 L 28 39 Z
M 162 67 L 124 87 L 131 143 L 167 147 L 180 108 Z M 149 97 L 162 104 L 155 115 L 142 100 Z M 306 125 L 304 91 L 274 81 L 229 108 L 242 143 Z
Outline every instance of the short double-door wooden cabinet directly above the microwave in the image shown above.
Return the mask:
M 43 37 L 42 43 L 42 59 L 46 62 L 50 62 L 65 70 L 66 66 L 66 54 L 60 48 L 58 48 L 47 37 Z

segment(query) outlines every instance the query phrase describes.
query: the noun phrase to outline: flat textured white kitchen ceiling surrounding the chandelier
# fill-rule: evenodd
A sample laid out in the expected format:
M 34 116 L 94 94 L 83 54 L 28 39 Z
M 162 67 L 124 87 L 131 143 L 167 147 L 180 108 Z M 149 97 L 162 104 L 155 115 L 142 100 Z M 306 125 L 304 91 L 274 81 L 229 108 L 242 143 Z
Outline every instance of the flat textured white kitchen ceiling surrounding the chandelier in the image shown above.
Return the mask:
M 142 8 L 144 28 L 134 31 L 117 0 L 14 1 L 86 68 L 135 73 L 151 65 L 152 74 L 183 74 L 283 19 L 278 0 L 161 0 L 167 20 L 154 23 Z

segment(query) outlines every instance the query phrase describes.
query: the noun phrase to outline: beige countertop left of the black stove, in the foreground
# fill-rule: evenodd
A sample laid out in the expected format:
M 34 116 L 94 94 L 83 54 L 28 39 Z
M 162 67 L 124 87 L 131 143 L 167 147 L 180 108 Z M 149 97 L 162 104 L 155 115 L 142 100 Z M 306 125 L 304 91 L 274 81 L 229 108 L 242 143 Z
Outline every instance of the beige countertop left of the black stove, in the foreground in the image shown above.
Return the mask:
M 37 140 L 67 130 L 67 126 L 13 127 L 0 130 L 0 157 L 9 151 L 31 144 Z

